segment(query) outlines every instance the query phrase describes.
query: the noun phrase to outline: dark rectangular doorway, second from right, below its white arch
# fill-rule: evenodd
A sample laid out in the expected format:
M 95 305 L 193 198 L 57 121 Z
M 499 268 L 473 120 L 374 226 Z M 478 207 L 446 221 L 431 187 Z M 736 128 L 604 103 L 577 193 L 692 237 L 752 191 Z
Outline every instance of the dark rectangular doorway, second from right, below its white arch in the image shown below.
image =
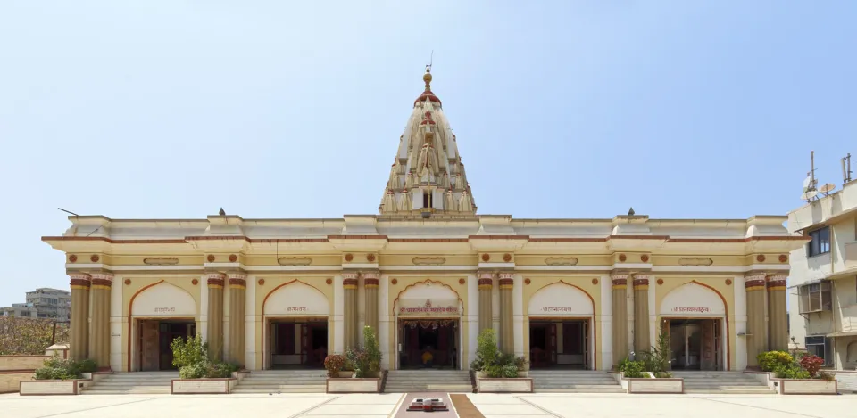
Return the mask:
M 589 320 L 529 321 L 531 368 L 589 369 Z

